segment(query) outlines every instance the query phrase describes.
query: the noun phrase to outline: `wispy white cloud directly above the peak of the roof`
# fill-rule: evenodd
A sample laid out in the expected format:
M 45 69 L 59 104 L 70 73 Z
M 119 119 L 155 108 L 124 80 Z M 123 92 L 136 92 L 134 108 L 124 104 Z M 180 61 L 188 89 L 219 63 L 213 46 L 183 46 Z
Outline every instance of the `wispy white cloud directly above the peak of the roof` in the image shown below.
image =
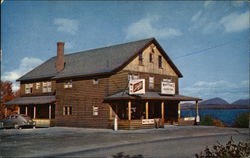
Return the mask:
M 156 28 L 159 23 L 158 16 L 147 16 L 128 26 L 126 30 L 126 38 L 169 38 L 182 35 L 181 31 L 174 28 Z

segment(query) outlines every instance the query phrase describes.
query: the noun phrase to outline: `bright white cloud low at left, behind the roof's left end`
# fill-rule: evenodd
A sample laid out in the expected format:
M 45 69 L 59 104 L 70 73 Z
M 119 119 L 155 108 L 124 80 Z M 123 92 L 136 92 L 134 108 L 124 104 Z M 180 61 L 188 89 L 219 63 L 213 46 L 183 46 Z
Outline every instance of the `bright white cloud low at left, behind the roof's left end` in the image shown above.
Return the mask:
M 3 81 L 11 81 L 13 82 L 12 84 L 12 89 L 14 91 L 19 89 L 19 84 L 16 83 L 15 81 L 21 77 L 22 75 L 24 75 L 25 73 L 29 72 L 31 69 L 33 69 L 34 67 L 38 66 L 39 64 L 41 64 L 43 61 L 39 58 L 32 58 L 32 57 L 24 57 L 18 68 L 12 70 L 12 71 L 8 71 L 8 72 L 4 72 L 1 79 Z

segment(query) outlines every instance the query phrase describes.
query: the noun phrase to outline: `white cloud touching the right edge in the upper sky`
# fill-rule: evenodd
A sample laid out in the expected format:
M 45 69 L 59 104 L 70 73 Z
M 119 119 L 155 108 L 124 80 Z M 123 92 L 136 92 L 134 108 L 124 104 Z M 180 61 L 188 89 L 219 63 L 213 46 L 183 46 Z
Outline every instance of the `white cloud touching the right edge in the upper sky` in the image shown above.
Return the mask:
M 227 16 L 224 16 L 220 20 L 226 32 L 237 32 L 249 28 L 249 11 L 245 13 L 232 13 Z

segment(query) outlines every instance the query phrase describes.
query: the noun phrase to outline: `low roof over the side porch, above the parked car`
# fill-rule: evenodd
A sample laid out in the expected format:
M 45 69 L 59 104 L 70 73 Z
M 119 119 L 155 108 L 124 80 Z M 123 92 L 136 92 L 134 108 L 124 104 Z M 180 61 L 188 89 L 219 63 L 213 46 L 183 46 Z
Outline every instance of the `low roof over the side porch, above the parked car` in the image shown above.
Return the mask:
M 19 97 L 6 102 L 5 105 L 48 104 L 55 101 L 55 96 Z

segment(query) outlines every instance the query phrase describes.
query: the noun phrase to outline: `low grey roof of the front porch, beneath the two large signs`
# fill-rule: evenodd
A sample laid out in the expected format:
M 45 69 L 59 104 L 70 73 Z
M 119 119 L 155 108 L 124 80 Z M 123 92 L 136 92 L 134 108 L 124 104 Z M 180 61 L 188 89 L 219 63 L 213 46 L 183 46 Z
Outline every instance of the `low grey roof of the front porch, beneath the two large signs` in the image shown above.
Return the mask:
M 171 101 L 199 101 L 200 98 L 194 98 L 184 95 L 164 95 L 160 92 L 146 92 L 143 95 L 129 95 L 128 92 L 118 92 L 111 96 L 104 97 L 105 101 L 112 100 L 171 100 Z

